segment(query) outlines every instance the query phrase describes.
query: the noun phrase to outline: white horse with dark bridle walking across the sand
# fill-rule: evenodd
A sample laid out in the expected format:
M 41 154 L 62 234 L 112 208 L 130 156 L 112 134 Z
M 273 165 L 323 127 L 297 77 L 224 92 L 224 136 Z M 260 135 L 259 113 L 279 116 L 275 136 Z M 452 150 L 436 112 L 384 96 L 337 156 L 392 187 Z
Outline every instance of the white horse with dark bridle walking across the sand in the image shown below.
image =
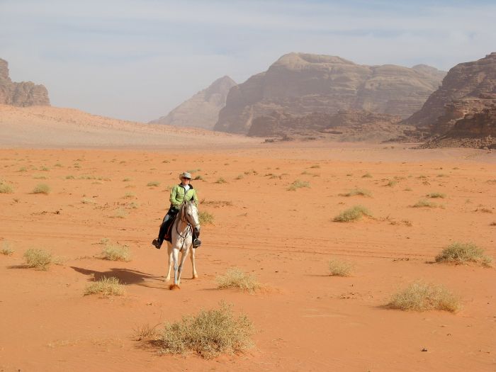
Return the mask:
M 169 256 L 169 269 L 167 271 L 166 281 L 171 280 L 171 269 L 174 264 L 174 284 L 169 286 L 169 289 L 179 289 L 181 283 L 181 273 L 183 265 L 188 253 L 193 245 L 193 229 L 196 234 L 200 235 L 200 221 L 198 219 L 198 208 L 191 201 L 181 205 L 181 210 L 177 213 L 176 218 L 171 227 L 171 241 L 167 242 L 167 254 Z M 195 265 L 195 251 L 191 249 L 191 264 L 193 265 L 193 278 L 198 278 Z M 181 264 L 179 261 L 179 252 L 181 254 Z

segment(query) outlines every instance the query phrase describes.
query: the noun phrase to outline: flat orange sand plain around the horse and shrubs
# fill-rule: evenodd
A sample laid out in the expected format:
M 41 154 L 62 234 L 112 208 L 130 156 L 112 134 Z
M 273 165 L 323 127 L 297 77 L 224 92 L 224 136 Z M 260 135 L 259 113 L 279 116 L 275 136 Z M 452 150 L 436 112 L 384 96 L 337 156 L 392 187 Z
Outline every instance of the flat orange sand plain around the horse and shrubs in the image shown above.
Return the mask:
M 235 147 L 0 150 L 0 179 L 14 188 L 0 193 L 0 246 L 15 251 L 0 255 L 0 371 L 495 371 L 495 269 L 434 263 L 452 242 L 474 242 L 496 258 L 494 152 Z M 203 178 L 192 184 L 215 220 L 202 227 L 199 278 L 188 259 L 181 290 L 169 291 L 167 251 L 150 242 L 185 170 Z M 288 191 L 295 180 L 310 188 Z M 32 193 L 40 183 L 52 191 Z M 354 188 L 371 197 L 339 195 Z M 412 208 L 433 192 L 446 194 L 429 199 L 436 208 Z M 358 204 L 373 218 L 332 222 Z M 128 244 L 132 261 L 99 258 L 103 238 Z M 60 264 L 26 269 L 29 248 Z M 329 276 L 330 259 L 353 264 L 353 275 Z M 266 288 L 218 289 L 216 276 L 233 266 Z M 126 294 L 84 295 L 101 276 L 120 278 Z M 451 289 L 462 310 L 385 306 L 419 279 Z M 252 320 L 254 349 L 205 360 L 136 341 L 137 327 L 221 300 Z

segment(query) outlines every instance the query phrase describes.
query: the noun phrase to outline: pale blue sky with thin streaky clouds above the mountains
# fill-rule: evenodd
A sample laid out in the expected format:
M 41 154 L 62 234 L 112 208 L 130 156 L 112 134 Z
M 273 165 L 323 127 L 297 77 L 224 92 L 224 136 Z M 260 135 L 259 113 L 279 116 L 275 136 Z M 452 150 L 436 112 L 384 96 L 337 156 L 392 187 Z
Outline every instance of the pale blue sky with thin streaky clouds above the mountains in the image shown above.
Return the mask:
M 288 52 L 448 71 L 496 52 L 495 18 L 495 0 L 0 0 L 0 58 L 52 106 L 147 122 Z

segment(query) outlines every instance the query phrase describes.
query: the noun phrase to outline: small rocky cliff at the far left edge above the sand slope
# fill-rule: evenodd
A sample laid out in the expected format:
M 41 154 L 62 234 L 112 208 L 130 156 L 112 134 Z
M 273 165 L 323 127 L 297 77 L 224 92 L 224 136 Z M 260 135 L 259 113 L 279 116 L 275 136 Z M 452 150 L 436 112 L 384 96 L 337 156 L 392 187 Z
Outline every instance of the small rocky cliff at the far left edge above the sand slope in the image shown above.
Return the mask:
M 9 77 L 9 63 L 0 58 L 0 104 L 12 106 L 50 106 L 48 91 L 31 81 L 16 83 Z

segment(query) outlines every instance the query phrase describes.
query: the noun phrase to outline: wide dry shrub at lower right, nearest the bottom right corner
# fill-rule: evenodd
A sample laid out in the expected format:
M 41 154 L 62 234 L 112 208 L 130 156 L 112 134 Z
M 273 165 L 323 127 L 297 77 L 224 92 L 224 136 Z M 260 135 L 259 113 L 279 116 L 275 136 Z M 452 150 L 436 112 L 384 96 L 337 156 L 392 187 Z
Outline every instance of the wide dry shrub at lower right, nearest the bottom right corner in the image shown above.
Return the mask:
M 400 310 L 456 312 L 460 310 L 461 305 L 458 298 L 444 286 L 416 281 L 393 295 L 388 307 Z

